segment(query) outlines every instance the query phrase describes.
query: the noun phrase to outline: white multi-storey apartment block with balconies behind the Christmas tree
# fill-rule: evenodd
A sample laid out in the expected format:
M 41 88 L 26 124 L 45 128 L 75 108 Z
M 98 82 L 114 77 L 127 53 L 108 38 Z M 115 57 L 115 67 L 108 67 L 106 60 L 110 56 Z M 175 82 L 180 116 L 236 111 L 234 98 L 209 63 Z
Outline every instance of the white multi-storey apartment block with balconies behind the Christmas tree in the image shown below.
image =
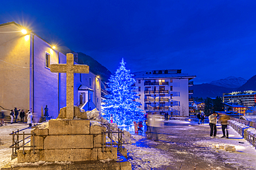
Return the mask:
M 189 89 L 196 76 L 181 73 L 181 70 L 152 70 L 134 72 L 136 92 L 141 109 L 148 114 L 189 116 L 189 103 L 193 102 Z

